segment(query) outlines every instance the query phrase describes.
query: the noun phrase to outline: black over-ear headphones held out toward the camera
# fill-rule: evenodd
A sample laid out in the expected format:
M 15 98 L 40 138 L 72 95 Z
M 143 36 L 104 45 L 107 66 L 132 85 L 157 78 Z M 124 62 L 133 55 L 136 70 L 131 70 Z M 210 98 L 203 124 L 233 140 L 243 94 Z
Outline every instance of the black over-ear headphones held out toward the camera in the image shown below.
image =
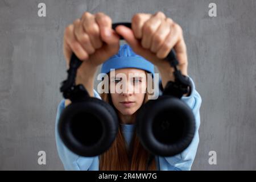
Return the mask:
M 131 23 L 114 23 L 112 28 Z M 121 37 L 121 39 L 123 39 Z M 156 100 L 149 100 L 137 114 L 136 132 L 144 148 L 153 155 L 173 156 L 184 151 L 195 133 L 195 118 L 191 108 L 180 100 L 188 93 L 191 82 L 177 69 L 178 61 L 172 50 L 166 57 L 175 68 L 175 81 L 168 82 Z M 61 82 L 60 92 L 71 100 L 61 113 L 58 131 L 61 140 L 81 156 L 97 156 L 107 151 L 118 131 L 118 117 L 112 106 L 90 97 L 83 85 L 75 85 L 77 69 L 82 61 L 72 54 L 67 80 Z M 162 86 L 162 84 L 160 85 Z

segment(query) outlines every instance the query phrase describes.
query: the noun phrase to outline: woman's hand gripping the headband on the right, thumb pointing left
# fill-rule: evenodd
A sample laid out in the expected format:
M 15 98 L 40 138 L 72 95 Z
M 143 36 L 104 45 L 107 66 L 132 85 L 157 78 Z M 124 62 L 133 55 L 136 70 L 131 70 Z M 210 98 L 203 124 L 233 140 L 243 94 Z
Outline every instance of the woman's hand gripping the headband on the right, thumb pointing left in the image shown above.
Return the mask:
M 135 14 L 131 26 L 131 29 L 118 26 L 115 31 L 123 36 L 135 53 L 151 61 L 158 68 L 163 86 L 168 81 L 174 81 L 174 69 L 167 61 L 163 61 L 172 48 L 175 49 L 179 61 L 178 69 L 183 75 L 188 76 L 187 48 L 179 24 L 167 18 L 164 13 L 158 12 Z

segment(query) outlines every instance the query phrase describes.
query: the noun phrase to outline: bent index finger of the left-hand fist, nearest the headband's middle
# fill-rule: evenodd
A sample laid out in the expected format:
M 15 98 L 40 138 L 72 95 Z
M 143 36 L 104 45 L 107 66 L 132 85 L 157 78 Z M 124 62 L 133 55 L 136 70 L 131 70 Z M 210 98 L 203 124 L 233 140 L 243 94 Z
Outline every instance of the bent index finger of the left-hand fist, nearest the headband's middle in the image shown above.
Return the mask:
M 112 19 L 104 13 L 96 14 L 96 22 L 100 27 L 100 36 L 109 45 L 119 43 L 118 34 L 112 29 Z

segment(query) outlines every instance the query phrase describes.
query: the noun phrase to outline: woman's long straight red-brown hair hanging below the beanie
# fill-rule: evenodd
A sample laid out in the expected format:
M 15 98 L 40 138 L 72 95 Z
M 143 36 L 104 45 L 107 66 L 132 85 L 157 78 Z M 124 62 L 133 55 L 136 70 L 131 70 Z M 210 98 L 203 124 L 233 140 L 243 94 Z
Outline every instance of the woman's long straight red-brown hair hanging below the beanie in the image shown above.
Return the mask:
M 152 82 L 152 85 L 154 85 L 154 82 Z M 108 102 L 115 109 L 110 93 L 102 93 L 100 96 L 102 100 Z M 149 93 L 147 89 L 143 104 L 148 101 L 148 96 Z M 112 143 L 112 146 L 110 146 L 108 151 L 105 151 L 100 155 L 99 169 L 100 171 L 145 171 L 146 169 L 149 171 L 156 171 L 155 158 L 152 159 L 151 164 L 146 168 L 148 157 L 149 153 L 142 146 L 135 130 L 133 138 L 131 139 L 130 150 L 127 151 L 122 127 L 119 125 L 118 134 Z

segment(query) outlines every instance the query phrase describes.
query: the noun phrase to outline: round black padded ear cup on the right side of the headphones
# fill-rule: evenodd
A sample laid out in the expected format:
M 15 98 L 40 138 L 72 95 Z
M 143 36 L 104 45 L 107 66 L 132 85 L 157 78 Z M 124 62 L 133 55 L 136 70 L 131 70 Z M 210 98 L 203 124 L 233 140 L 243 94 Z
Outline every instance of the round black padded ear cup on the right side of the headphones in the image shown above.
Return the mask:
M 159 156 L 179 154 L 189 146 L 195 134 L 191 108 L 172 96 L 148 101 L 139 109 L 136 123 L 144 148 Z

